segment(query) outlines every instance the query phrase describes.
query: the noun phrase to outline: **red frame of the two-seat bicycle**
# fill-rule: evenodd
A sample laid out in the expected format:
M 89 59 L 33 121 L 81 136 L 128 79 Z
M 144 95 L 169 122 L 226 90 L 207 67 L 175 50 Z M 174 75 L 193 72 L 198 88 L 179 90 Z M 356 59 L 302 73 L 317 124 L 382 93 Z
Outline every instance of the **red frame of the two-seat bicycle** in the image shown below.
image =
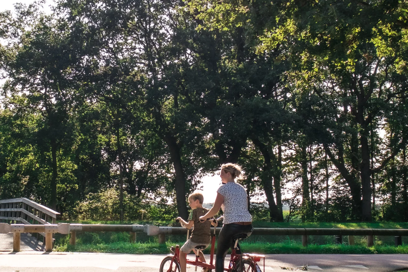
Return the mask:
M 215 219 L 213 219 L 215 222 Z M 215 250 L 215 226 L 214 226 L 214 231 L 211 234 L 211 252 L 210 252 L 210 263 L 203 263 L 198 260 L 198 254 L 195 256 L 195 260 L 189 260 L 188 258 L 186 259 L 186 263 L 190 265 L 194 265 L 196 267 L 202 267 L 202 268 L 209 268 L 211 270 L 215 270 L 215 265 L 213 264 L 214 262 L 214 250 Z M 176 245 L 176 247 L 172 247 L 172 253 L 167 256 L 172 257 L 171 263 L 170 263 L 170 268 L 167 270 L 167 272 L 171 272 L 171 268 L 173 267 L 173 262 L 177 262 L 180 264 L 180 246 Z M 239 261 L 241 257 L 241 254 L 236 253 L 235 247 L 233 248 L 231 252 L 231 259 L 229 261 L 228 267 L 224 267 L 224 271 L 227 272 L 232 272 L 235 269 L 235 263 Z M 244 253 L 242 254 L 243 259 L 249 259 L 253 263 L 257 263 L 258 261 L 261 260 L 261 258 L 264 259 L 264 271 L 265 271 L 265 255 L 258 255 L 258 254 L 249 254 L 249 253 Z

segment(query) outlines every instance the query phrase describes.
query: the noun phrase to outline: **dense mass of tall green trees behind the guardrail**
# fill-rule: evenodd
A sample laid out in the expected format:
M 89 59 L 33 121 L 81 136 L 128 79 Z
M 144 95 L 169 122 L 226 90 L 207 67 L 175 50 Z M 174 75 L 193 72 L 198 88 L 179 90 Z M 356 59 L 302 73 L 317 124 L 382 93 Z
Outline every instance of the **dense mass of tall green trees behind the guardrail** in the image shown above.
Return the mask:
M 255 220 L 408 219 L 407 10 L 18 4 L 0 13 L 0 198 L 68 220 L 170 221 L 233 162 Z

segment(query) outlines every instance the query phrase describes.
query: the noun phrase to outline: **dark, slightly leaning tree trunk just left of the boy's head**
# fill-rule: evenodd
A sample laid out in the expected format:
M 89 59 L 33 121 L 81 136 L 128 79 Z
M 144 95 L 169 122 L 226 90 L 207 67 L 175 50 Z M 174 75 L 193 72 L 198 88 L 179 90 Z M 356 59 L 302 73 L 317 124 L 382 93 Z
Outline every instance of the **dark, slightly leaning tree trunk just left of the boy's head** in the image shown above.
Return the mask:
M 180 147 L 177 145 L 177 140 L 174 136 L 164 136 L 167 146 L 170 149 L 170 157 L 173 162 L 175 172 L 175 190 L 178 215 L 187 220 L 188 211 L 186 205 L 186 178 L 180 156 Z

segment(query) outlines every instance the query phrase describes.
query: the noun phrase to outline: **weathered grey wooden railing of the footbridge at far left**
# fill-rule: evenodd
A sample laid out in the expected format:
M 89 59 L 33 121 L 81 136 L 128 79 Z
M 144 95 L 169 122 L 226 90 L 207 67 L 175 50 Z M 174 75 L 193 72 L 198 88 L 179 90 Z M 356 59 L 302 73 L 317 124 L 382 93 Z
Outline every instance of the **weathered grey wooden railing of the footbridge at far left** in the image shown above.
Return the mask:
M 0 200 L 0 223 L 52 225 L 57 221 L 58 214 L 60 213 L 25 197 Z M 45 237 L 44 232 L 33 233 L 37 239 L 38 234 Z

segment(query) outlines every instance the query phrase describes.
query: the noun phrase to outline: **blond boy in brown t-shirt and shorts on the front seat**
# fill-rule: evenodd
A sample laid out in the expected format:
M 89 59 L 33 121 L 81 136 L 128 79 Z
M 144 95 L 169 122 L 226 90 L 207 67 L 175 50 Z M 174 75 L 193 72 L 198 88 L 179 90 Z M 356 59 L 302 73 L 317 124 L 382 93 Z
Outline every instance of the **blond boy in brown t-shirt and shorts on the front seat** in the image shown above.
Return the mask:
M 211 221 L 200 222 L 200 216 L 203 216 L 208 212 L 208 209 L 202 206 L 204 202 L 204 196 L 201 193 L 193 193 L 188 196 L 188 205 L 191 207 L 190 216 L 188 217 L 188 222 L 184 221 L 183 218 L 177 217 L 180 220 L 180 224 L 188 229 L 194 226 L 194 230 L 191 232 L 190 239 L 184 243 L 180 248 L 180 266 L 181 272 L 186 272 L 186 255 L 191 252 L 191 250 L 196 253 L 195 247 L 198 245 L 204 245 L 205 248 L 211 242 Z M 199 259 L 201 262 L 205 263 L 204 254 L 202 251 L 199 252 Z M 203 269 L 204 272 L 207 271 L 206 268 Z

